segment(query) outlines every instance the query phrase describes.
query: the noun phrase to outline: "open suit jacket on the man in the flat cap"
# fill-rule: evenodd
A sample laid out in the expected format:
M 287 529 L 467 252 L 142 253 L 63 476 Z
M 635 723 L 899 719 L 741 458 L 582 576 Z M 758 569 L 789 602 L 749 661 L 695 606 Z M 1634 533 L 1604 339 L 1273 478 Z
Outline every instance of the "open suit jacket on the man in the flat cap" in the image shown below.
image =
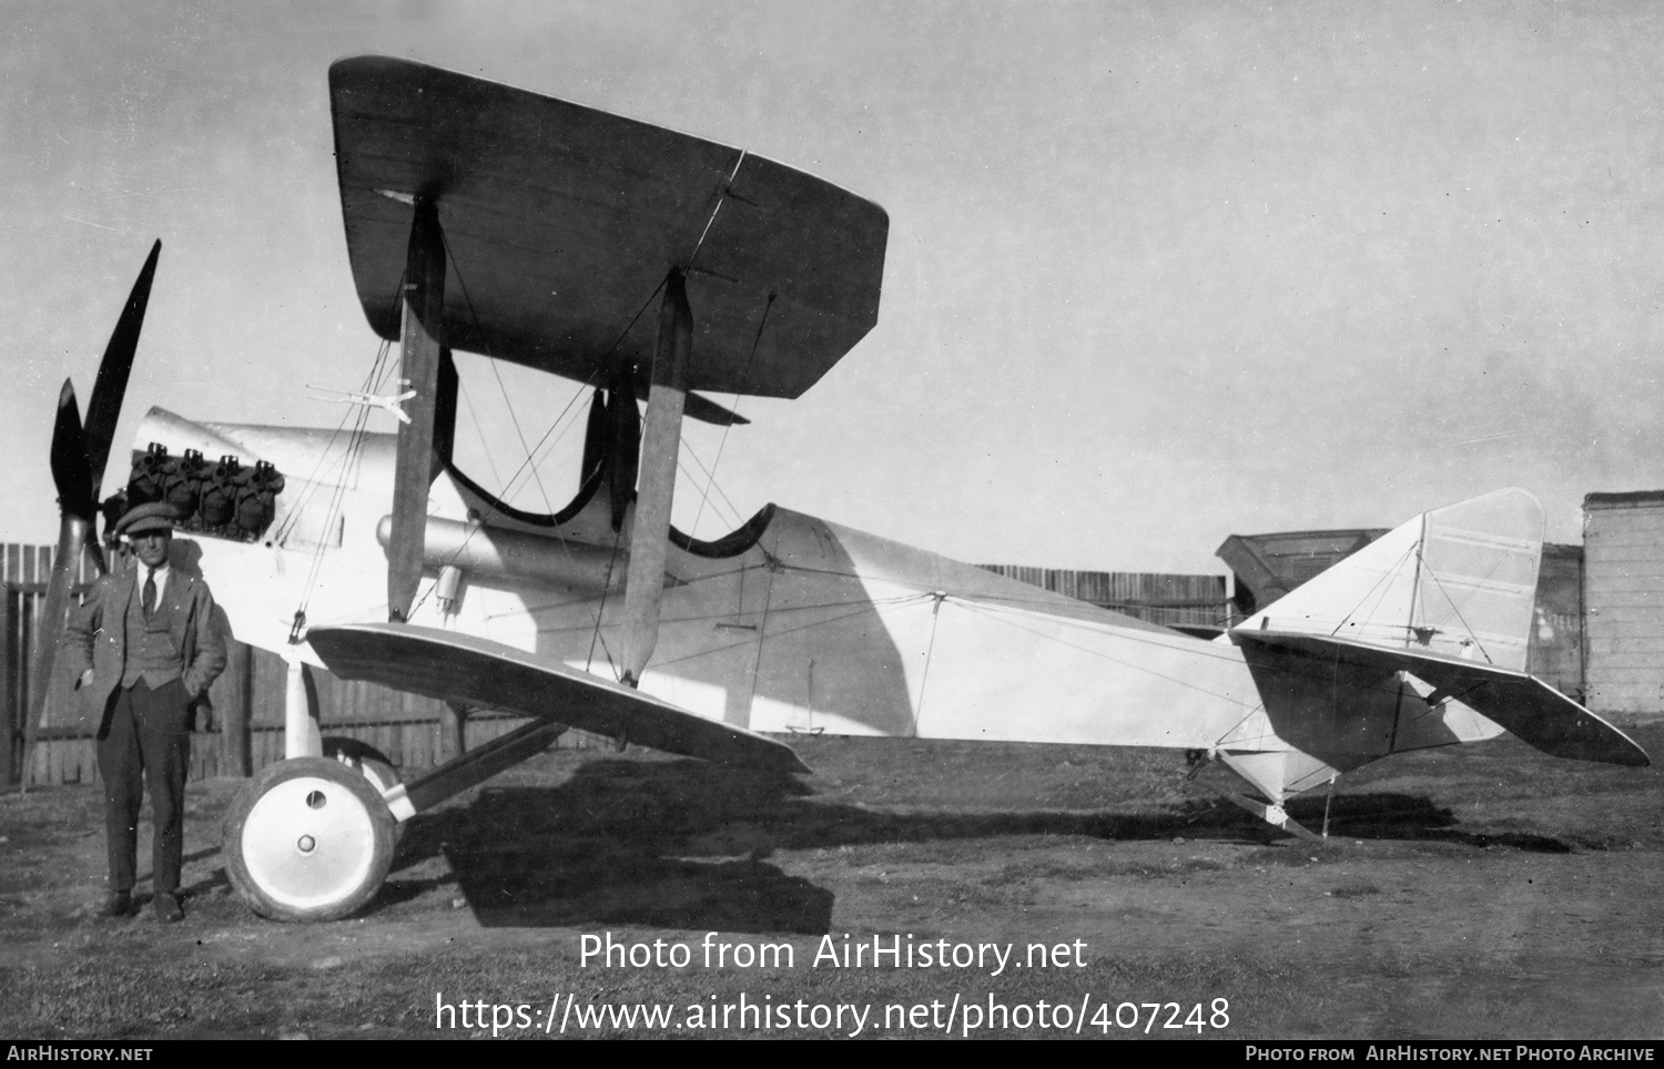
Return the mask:
M 93 584 L 87 603 L 70 610 L 63 632 L 63 660 L 75 677 L 93 670 L 93 682 L 85 690 L 100 715 L 98 738 L 110 730 L 110 695 L 121 685 L 126 670 L 126 612 L 136 587 L 138 567 L 103 575 Z M 213 595 L 201 579 L 171 569 L 161 602 L 173 610 L 180 680 L 191 702 L 186 727 L 193 727 L 196 707 L 208 702 L 208 685 L 225 670 L 225 638 L 213 622 Z

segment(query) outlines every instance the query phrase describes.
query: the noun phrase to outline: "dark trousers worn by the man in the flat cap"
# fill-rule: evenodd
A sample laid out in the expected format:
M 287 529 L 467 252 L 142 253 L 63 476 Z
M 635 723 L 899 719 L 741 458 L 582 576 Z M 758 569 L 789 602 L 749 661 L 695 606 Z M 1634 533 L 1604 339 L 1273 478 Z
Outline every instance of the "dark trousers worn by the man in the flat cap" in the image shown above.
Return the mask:
M 185 683 L 151 690 L 140 680 L 110 698 L 110 730 L 98 740 L 98 775 L 105 781 L 105 843 L 110 889 L 131 891 L 138 868 L 138 810 L 150 781 L 155 825 L 150 865 L 156 894 L 180 889 L 185 853 L 185 773 L 191 763 L 190 702 Z

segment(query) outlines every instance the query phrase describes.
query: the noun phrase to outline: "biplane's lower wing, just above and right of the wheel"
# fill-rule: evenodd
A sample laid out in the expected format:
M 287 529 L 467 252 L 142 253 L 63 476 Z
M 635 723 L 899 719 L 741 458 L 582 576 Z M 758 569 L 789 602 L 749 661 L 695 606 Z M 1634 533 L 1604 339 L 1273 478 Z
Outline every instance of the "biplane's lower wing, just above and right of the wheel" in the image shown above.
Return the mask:
M 511 708 L 722 765 L 809 771 L 785 743 L 486 638 L 408 623 L 351 623 L 314 627 L 306 640 L 341 678 Z

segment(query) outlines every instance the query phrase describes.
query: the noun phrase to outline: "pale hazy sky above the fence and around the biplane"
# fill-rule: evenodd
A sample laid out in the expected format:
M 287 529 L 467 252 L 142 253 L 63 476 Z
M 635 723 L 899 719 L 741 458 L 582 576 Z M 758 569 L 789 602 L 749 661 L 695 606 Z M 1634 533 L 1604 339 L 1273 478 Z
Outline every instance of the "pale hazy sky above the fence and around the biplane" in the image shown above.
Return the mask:
M 1228 534 L 1388 527 L 1511 484 L 1577 542 L 1584 494 L 1664 485 L 1651 3 L 3 13 L 0 540 L 55 539 L 57 391 L 70 376 L 85 404 L 155 238 L 118 456 L 153 404 L 341 417 L 305 384 L 351 389 L 378 349 L 326 91 L 358 53 L 697 133 L 885 206 L 877 329 L 802 399 L 742 399 L 754 426 L 689 436 L 707 464 L 721 444 L 744 515 L 774 500 L 967 560 L 1221 572 Z M 504 426 L 496 377 L 464 376 Z M 506 372 L 531 437 L 576 391 L 536 377 Z M 471 466 L 506 474 L 491 434 L 459 427 Z M 518 500 L 564 504 L 562 459 Z M 697 500 L 684 480 L 679 522 Z M 727 525 L 706 509 L 699 534 Z

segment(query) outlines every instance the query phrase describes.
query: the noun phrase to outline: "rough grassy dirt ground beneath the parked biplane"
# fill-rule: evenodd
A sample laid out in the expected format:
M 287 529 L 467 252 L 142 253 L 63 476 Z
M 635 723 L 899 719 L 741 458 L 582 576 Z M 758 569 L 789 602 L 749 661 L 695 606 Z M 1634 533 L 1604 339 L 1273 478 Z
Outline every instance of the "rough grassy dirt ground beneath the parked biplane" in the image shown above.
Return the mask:
M 1664 728 L 1634 736 L 1664 756 Z M 240 781 L 190 788 L 176 926 L 95 918 L 95 790 L 3 796 L 0 1036 L 1664 1036 L 1657 768 L 1403 755 L 1341 780 L 1316 846 L 1176 753 L 797 745 L 814 776 L 546 753 L 418 816 L 371 908 L 311 926 L 226 883 Z M 1325 798 L 1293 813 L 1320 828 Z M 661 961 L 584 961 L 607 933 Z M 817 958 L 875 936 L 914 963 Z M 957 943 L 1017 964 L 919 961 Z M 792 959 L 734 963 L 765 944 Z

